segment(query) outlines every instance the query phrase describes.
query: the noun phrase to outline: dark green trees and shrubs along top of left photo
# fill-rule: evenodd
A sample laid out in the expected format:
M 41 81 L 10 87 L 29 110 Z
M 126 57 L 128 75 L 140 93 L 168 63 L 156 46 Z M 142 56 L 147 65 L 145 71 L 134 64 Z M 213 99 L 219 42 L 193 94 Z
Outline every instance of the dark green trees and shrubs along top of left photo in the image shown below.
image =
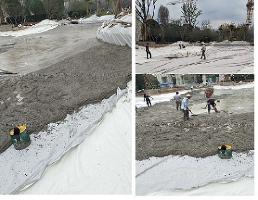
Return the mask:
M 132 5 L 131 0 L 0 0 L 0 8 L 7 14 L 7 23 L 16 24 L 112 14 L 117 2 L 119 10 Z

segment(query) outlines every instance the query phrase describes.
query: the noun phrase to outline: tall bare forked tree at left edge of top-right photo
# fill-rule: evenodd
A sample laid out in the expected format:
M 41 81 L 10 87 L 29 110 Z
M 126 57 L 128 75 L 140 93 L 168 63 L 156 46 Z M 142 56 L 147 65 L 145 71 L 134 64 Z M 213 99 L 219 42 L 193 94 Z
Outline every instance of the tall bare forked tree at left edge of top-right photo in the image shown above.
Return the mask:
M 136 14 L 140 17 L 141 21 L 143 22 L 142 36 L 144 41 L 147 40 L 146 21 L 148 20 L 150 7 L 153 7 L 151 14 L 151 19 L 153 19 L 156 2 L 157 0 L 136 0 Z

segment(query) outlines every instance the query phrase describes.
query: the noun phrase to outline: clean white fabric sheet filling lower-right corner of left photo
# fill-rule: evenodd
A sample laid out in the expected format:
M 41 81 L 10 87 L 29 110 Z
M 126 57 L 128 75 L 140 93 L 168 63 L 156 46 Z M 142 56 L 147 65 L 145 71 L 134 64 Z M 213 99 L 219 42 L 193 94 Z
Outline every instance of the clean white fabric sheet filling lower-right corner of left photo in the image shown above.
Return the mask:
M 132 85 L 92 134 L 17 194 L 131 194 Z

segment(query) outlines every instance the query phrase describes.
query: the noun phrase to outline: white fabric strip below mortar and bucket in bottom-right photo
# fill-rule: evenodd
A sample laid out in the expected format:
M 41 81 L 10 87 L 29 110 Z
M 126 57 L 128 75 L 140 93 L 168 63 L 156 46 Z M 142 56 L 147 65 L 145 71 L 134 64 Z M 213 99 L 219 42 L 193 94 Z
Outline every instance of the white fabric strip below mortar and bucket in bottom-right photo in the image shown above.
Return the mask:
M 254 176 L 254 151 L 233 153 L 231 159 L 221 159 L 218 155 L 206 158 L 152 157 L 136 161 L 136 194 L 190 189 L 207 183 L 236 181 L 244 176 Z

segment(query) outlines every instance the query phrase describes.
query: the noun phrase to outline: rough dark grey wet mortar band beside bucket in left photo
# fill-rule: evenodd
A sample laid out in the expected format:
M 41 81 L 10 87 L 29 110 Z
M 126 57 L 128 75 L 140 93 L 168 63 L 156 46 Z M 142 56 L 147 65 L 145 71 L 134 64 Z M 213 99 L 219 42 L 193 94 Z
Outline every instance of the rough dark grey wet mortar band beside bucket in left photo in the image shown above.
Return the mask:
M 36 134 L 124 89 L 132 79 L 131 56 L 129 47 L 101 42 L 44 69 L 0 76 L 0 153 L 12 144 L 9 130 L 15 125 L 26 124 Z

